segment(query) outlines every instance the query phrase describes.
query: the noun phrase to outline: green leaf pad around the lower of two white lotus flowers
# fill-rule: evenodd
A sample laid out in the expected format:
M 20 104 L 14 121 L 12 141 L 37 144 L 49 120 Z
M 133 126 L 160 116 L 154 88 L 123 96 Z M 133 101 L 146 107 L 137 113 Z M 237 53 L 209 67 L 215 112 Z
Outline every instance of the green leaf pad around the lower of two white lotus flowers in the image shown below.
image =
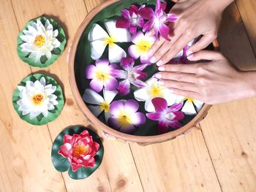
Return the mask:
M 56 100 L 59 102 L 59 104 L 54 106 L 55 107 L 54 110 L 49 111 L 47 118 L 45 118 L 42 115 L 42 113 L 40 115 L 38 115 L 36 118 L 33 118 L 33 119 L 29 118 L 29 114 L 28 115 L 22 115 L 22 112 L 20 112 L 18 110 L 20 105 L 17 104 L 17 101 L 20 100 L 20 91 L 18 90 L 18 88 L 15 89 L 15 91 L 13 93 L 13 96 L 12 96 L 13 107 L 15 108 L 15 111 L 18 113 L 20 118 L 22 120 L 25 120 L 27 123 L 30 123 L 30 124 L 36 125 L 36 126 L 45 125 L 46 123 L 49 123 L 50 121 L 53 121 L 56 118 L 58 118 L 59 114 L 61 113 L 62 108 L 64 107 L 64 96 L 63 96 L 63 93 L 62 93 L 61 86 L 58 84 L 58 82 L 56 82 L 56 80 L 53 79 L 53 77 L 49 77 L 45 74 L 39 74 L 39 73 L 38 74 L 32 74 L 32 75 L 29 75 L 28 77 L 24 78 L 18 85 L 25 86 L 26 81 L 31 80 L 32 82 L 35 82 L 36 80 L 40 80 L 41 77 L 45 77 L 46 85 L 52 84 L 52 85 L 56 86 L 56 91 L 54 92 L 54 95 L 57 96 Z

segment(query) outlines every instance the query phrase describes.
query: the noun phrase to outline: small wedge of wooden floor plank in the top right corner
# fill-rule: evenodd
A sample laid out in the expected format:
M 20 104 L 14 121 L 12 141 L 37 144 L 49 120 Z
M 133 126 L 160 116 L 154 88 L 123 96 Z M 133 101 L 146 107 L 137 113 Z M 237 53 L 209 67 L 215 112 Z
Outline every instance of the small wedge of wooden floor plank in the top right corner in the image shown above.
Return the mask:
M 236 0 L 241 18 L 249 36 L 252 48 L 256 55 L 256 1 L 255 0 Z M 256 64 L 255 64 L 256 65 Z

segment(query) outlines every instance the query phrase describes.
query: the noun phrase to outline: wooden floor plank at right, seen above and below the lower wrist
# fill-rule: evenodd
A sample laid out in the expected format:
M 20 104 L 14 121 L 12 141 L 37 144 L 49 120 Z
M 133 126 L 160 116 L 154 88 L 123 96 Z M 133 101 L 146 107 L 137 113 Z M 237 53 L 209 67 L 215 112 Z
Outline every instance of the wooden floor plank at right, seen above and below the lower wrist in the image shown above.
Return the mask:
M 224 14 L 222 53 L 241 69 L 256 69 L 255 55 L 236 4 Z M 223 191 L 255 191 L 256 99 L 211 108 L 200 125 Z

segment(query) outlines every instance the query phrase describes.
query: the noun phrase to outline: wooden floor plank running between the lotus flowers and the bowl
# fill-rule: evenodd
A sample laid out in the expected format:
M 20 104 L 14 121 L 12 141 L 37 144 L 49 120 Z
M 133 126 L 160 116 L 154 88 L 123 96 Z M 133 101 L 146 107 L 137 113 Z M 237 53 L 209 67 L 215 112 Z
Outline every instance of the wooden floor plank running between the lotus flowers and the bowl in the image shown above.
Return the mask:
M 26 6 L 34 4 L 34 6 Z M 25 6 L 24 6 L 25 5 Z M 64 24 L 65 31 L 68 32 L 68 45 L 71 45 L 72 38 L 75 35 L 80 23 L 82 23 L 87 12 L 83 1 L 13 1 L 15 14 L 18 18 L 19 26 L 24 26 L 27 20 L 37 18 L 45 14 L 57 18 Z M 67 30 L 68 29 L 68 30 Z M 68 66 L 67 66 L 67 48 L 55 64 L 48 67 L 46 71 L 56 77 L 64 86 L 66 104 L 60 117 L 52 123 L 49 123 L 50 134 L 54 139 L 61 130 L 71 125 L 89 126 L 87 118 L 80 112 L 69 87 Z M 37 69 L 33 68 L 33 71 Z M 91 127 L 95 128 L 95 127 Z M 95 128 L 102 137 L 101 131 Z M 113 140 L 106 140 L 104 137 L 105 155 L 102 165 L 86 180 L 71 180 L 67 173 L 64 173 L 64 179 L 68 191 L 142 191 L 142 186 L 138 177 L 132 153 L 129 145 Z M 121 152 L 121 153 L 120 153 Z

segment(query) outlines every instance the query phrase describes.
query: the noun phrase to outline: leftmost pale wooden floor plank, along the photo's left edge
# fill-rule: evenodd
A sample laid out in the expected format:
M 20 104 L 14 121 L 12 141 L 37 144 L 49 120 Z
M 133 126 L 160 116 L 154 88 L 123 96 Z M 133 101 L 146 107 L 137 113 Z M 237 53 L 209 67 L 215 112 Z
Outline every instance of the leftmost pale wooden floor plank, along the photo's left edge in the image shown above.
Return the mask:
M 16 53 L 19 29 L 12 4 L 0 4 L 0 191 L 65 191 L 61 174 L 50 165 L 47 126 L 30 126 L 12 107 L 12 93 L 31 69 Z

